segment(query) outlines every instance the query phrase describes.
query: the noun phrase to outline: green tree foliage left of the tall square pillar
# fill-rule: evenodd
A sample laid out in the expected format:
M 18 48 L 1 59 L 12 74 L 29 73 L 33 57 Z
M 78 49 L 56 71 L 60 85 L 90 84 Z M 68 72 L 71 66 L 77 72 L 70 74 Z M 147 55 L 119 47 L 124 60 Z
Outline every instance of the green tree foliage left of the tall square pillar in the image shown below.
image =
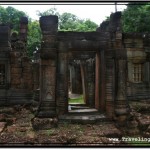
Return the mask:
M 20 18 L 27 16 L 23 11 L 19 11 L 13 7 L 8 6 L 4 8 L 0 6 L 0 22 L 3 24 L 12 25 L 12 32 L 19 32 Z M 28 17 L 28 16 L 27 16 Z M 28 17 L 28 42 L 27 50 L 30 57 L 36 47 L 39 47 L 41 41 L 41 33 L 39 23 L 36 21 L 31 21 L 31 18 Z

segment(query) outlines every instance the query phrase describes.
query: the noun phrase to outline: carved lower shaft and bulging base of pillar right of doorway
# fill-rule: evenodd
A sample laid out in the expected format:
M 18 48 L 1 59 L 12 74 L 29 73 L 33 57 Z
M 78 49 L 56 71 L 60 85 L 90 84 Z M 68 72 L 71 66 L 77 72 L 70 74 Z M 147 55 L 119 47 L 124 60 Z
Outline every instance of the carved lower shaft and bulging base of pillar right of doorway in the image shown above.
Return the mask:
M 117 96 L 115 101 L 115 114 L 117 116 L 118 123 L 120 125 L 125 125 L 127 114 L 129 113 L 129 107 L 127 103 L 127 60 L 118 59 L 116 62 L 117 70 Z

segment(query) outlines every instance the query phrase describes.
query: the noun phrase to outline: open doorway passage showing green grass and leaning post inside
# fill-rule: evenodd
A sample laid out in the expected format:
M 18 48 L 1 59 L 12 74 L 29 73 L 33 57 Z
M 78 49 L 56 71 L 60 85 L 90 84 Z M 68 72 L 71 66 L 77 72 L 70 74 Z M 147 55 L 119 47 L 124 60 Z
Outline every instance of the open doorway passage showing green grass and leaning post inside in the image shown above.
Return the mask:
M 96 52 L 69 53 L 68 112 L 96 111 L 96 68 Z

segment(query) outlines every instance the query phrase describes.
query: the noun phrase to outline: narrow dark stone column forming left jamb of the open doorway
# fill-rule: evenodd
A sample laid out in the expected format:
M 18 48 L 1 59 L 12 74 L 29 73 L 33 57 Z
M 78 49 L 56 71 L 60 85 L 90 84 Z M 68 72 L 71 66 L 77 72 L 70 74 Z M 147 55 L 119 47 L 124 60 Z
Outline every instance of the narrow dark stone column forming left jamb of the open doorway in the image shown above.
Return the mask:
M 59 43 L 58 69 L 57 69 L 57 113 L 68 112 L 68 53 L 65 43 Z

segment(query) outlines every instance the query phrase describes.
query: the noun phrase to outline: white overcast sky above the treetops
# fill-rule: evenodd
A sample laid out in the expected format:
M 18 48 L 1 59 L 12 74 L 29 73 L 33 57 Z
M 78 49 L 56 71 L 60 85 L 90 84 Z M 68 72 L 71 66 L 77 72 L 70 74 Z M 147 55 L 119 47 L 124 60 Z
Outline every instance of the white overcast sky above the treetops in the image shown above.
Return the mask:
M 109 4 L 109 5 L 108 5 Z M 37 10 L 40 12 L 44 12 L 50 8 L 56 8 L 59 13 L 69 12 L 76 15 L 80 19 L 90 19 L 91 21 L 97 23 L 98 25 L 105 20 L 107 16 L 109 16 L 112 12 L 115 12 L 115 5 L 114 3 L 93 3 L 93 4 L 86 4 L 86 3 L 78 3 L 78 4 L 67 4 L 62 3 L 55 4 L 54 3 L 29 3 L 28 5 L 20 5 L 20 4 L 7 4 L 7 3 L 0 3 L 3 7 L 12 6 L 18 10 L 26 12 L 32 19 L 39 20 L 39 17 L 36 15 Z M 123 3 L 117 4 L 117 10 L 122 11 L 126 8 L 126 5 Z

